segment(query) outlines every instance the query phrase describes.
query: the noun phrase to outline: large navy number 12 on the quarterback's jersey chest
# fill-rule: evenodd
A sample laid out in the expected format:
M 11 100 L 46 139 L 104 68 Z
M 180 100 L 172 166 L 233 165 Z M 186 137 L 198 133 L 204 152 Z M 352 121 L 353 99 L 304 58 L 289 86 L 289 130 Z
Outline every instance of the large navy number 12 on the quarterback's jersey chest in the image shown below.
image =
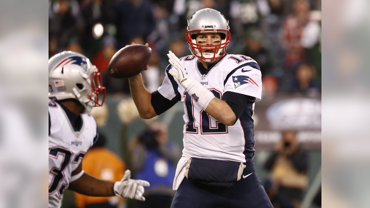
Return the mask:
M 216 89 L 209 89 L 215 97 L 221 99 L 221 92 Z M 201 127 L 201 134 L 227 134 L 228 127 L 219 122 L 211 119 L 210 115 L 206 112 L 201 110 L 200 112 L 194 112 L 194 102 L 193 98 L 185 91 L 184 92 L 184 103 L 186 108 L 186 114 L 188 115 L 188 122 L 186 122 L 186 133 L 189 134 L 198 134 L 198 127 L 195 126 L 195 118 L 194 113 L 200 114 L 200 127 Z M 196 104 L 195 104 L 196 105 Z M 213 124 L 213 125 L 212 125 Z

